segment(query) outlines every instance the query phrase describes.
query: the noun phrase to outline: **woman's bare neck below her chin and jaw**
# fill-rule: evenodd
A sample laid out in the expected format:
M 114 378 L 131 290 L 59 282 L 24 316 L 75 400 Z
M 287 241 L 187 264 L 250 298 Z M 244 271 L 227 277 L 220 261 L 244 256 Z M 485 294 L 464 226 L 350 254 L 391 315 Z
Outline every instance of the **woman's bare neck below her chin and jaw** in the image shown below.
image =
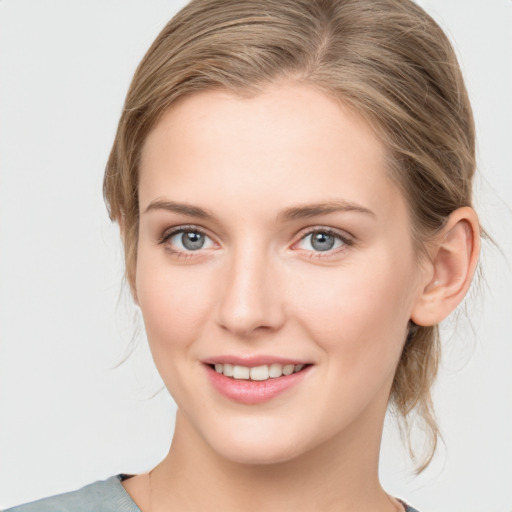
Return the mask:
M 292 460 L 255 465 L 214 452 L 178 413 L 171 449 L 151 475 L 152 512 L 396 511 L 378 480 L 382 423 L 368 424 L 373 432 L 354 425 Z

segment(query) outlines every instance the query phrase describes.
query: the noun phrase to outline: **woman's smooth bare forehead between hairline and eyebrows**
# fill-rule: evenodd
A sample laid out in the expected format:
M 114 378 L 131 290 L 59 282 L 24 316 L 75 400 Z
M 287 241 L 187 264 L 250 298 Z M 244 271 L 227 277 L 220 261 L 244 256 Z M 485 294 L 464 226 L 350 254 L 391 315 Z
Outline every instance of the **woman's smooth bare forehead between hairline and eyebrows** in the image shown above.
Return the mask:
M 246 98 L 205 91 L 180 100 L 148 136 L 141 159 L 141 209 L 171 195 L 205 206 L 249 207 L 329 199 L 396 202 L 386 151 L 341 102 L 313 87 L 279 84 Z M 366 203 L 366 204 L 365 204 Z

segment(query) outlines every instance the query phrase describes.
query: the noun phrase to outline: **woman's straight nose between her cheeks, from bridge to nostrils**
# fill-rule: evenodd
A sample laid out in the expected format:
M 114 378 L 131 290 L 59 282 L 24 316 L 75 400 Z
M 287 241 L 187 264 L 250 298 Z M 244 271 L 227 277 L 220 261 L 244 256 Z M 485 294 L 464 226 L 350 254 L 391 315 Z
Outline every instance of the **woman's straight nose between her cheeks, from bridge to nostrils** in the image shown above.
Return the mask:
M 238 337 L 273 332 L 284 323 L 278 264 L 258 250 L 234 253 L 221 278 L 217 322 Z

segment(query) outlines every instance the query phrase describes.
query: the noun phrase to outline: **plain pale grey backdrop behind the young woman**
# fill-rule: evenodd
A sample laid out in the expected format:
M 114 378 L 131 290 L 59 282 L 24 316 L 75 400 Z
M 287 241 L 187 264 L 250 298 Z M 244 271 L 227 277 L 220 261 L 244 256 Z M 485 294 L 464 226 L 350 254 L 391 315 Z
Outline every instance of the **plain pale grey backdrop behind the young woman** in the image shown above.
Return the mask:
M 0 508 L 146 471 L 167 452 L 174 404 L 122 286 L 101 184 L 131 75 L 183 4 L 0 0 Z M 389 419 L 382 481 L 422 512 L 510 512 L 512 2 L 421 5 L 460 57 L 477 209 L 500 249 L 484 248 L 485 281 L 443 328 L 444 444 L 415 477 Z

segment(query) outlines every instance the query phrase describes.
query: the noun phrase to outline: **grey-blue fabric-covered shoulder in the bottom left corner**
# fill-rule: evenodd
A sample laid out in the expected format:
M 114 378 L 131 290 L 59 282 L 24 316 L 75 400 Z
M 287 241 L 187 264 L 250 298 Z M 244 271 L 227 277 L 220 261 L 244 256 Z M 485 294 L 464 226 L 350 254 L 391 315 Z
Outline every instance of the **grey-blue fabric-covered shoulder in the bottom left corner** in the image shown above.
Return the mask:
M 4 512 L 140 512 L 116 475 L 77 491 L 19 505 Z

